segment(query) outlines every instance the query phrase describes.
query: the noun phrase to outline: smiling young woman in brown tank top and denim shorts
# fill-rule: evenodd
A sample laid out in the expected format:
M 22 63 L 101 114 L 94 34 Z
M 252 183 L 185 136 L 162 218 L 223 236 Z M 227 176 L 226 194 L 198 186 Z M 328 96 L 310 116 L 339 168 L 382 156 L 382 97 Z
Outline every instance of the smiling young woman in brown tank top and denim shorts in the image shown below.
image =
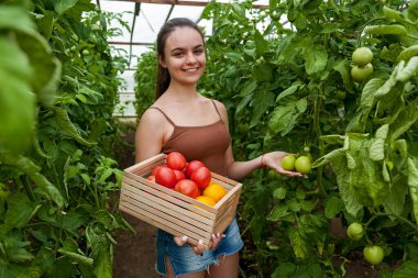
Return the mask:
M 211 171 L 234 180 L 260 167 L 289 177 L 301 176 L 280 167 L 287 155 L 284 152 L 267 153 L 249 162 L 234 160 L 224 105 L 197 91 L 206 54 L 204 34 L 193 21 L 166 22 L 157 35 L 157 54 L 156 101 L 144 112 L 136 130 L 136 162 L 177 151 L 187 160 L 201 160 Z M 211 248 L 207 251 L 200 243 L 187 244 L 186 236 L 173 236 L 161 230 L 156 242 L 156 270 L 166 277 L 238 277 L 243 243 L 235 220 L 224 234 L 212 235 Z

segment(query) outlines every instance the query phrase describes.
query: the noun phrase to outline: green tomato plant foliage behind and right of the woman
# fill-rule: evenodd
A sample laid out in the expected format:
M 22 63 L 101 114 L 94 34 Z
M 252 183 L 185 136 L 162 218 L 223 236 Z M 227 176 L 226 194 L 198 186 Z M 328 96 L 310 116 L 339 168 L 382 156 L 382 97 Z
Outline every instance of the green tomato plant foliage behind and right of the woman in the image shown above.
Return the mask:
M 414 1 L 251 5 L 205 9 L 213 34 L 199 90 L 227 105 L 238 160 L 308 152 L 316 168 L 301 180 L 263 170 L 244 180 L 242 276 L 341 277 L 364 246 L 381 245 L 385 263 L 370 271 L 407 277 L 418 267 Z M 360 84 L 350 74 L 359 46 L 375 69 Z M 139 115 L 153 102 L 154 63 L 154 53 L 140 59 Z M 359 242 L 344 233 L 354 221 L 366 231 Z

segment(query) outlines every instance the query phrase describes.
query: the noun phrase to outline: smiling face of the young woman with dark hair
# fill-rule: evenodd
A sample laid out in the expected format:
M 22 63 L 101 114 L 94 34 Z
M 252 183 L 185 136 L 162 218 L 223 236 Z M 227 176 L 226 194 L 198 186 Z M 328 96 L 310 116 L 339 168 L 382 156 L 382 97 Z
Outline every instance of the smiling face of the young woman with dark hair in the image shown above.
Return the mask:
M 160 65 L 166 67 L 172 81 L 194 85 L 199 81 L 206 67 L 204 40 L 191 27 L 177 27 L 165 42 L 164 58 Z

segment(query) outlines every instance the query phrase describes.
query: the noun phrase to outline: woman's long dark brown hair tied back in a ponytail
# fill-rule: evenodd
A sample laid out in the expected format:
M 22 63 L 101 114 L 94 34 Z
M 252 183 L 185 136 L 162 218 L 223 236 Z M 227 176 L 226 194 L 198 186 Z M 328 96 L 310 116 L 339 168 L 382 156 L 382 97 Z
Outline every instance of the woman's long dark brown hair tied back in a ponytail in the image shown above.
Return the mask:
M 157 35 L 157 57 L 164 57 L 165 43 L 168 35 L 175 31 L 177 27 L 191 27 L 196 30 L 205 42 L 205 35 L 198 25 L 189 19 L 186 18 L 175 18 L 167 21 L 160 30 Z M 157 60 L 158 63 L 158 60 Z M 169 76 L 168 69 L 163 68 L 158 63 L 158 74 L 157 74 L 157 84 L 156 84 L 156 93 L 155 99 L 158 99 L 169 86 L 172 77 Z

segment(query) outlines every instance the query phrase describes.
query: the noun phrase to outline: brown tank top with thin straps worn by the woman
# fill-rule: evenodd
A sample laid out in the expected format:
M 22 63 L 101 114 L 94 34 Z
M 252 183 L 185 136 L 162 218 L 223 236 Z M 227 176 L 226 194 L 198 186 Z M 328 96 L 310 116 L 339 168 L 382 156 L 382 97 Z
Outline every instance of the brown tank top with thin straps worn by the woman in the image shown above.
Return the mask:
M 213 101 L 212 103 L 219 115 L 219 121 L 201 126 L 176 125 L 163 110 L 156 107 L 151 108 L 158 110 L 174 127 L 173 134 L 163 146 L 163 153 L 179 152 L 186 157 L 187 162 L 200 160 L 211 171 L 227 176 L 224 160 L 231 136 L 217 105 Z

